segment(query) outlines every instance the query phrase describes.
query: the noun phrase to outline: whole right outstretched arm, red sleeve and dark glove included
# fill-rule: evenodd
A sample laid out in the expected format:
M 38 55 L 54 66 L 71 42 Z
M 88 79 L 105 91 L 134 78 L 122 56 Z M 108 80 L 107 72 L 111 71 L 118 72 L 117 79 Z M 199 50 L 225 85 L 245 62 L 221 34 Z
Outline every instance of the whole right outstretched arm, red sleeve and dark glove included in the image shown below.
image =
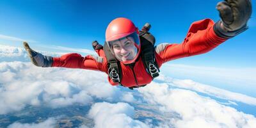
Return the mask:
M 186 56 L 211 51 L 228 38 L 247 29 L 246 23 L 252 14 L 250 0 L 225 0 L 217 4 L 221 20 L 204 19 L 194 22 L 182 44 L 160 44 L 156 47 L 156 59 L 162 63 Z

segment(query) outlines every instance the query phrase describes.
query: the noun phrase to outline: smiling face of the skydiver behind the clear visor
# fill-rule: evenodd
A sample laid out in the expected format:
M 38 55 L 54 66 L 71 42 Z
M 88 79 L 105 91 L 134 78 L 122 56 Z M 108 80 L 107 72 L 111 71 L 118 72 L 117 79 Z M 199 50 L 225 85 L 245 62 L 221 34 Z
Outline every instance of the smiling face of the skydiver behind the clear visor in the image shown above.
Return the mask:
M 132 37 L 125 37 L 113 42 L 113 52 L 119 61 L 134 60 L 138 53 L 138 49 L 135 45 Z

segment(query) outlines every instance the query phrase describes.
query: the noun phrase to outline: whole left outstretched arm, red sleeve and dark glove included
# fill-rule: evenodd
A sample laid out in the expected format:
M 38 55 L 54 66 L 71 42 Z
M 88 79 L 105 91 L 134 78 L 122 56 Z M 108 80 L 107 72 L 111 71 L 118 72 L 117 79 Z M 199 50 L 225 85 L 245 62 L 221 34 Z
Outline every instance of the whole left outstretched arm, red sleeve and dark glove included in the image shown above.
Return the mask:
M 100 56 L 81 56 L 81 54 L 70 53 L 64 54 L 60 58 L 44 56 L 39 52 L 33 51 L 28 45 L 24 42 L 24 47 L 28 52 L 31 62 L 38 67 L 66 67 L 66 68 L 84 68 L 90 70 L 100 70 L 105 72 L 106 67 L 104 67 L 104 58 Z

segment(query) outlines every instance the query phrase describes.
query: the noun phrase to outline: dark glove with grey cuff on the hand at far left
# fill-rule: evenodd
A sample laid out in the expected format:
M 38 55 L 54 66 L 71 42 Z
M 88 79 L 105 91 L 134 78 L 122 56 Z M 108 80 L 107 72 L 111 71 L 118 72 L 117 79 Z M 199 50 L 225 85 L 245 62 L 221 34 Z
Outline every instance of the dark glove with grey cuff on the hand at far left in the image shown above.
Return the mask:
M 44 56 L 36 51 L 33 51 L 27 42 L 23 42 L 24 48 L 28 52 L 28 56 L 31 62 L 38 66 L 38 67 L 52 67 L 52 57 L 51 56 Z

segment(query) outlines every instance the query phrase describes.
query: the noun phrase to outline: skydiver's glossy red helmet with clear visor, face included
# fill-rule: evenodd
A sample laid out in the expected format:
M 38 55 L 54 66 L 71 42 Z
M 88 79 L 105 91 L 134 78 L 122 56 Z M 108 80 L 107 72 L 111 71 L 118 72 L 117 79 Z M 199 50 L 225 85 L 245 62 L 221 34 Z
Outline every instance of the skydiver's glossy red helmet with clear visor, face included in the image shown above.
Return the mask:
M 133 63 L 140 54 L 139 31 L 129 19 L 112 20 L 106 29 L 106 42 L 116 59 L 124 64 Z

